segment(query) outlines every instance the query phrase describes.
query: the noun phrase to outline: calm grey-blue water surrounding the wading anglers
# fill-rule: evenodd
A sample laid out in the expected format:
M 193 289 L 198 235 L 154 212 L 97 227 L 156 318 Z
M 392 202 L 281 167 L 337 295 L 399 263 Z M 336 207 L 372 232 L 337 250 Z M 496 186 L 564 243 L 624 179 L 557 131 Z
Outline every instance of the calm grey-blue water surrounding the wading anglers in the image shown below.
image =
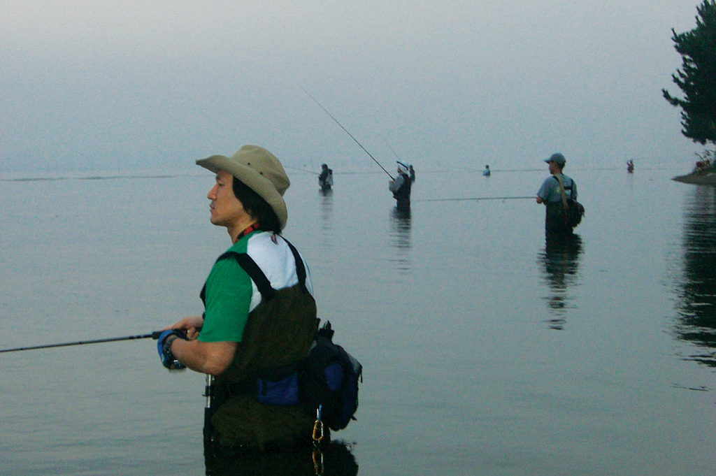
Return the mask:
M 291 172 L 284 235 L 364 365 L 334 435 L 360 475 L 713 475 L 716 188 L 567 170 L 586 207 L 550 243 L 546 170 Z M 290 171 L 289 171 L 290 172 Z M 141 174 L 137 174 L 141 175 Z M 1 348 L 145 334 L 198 314 L 230 245 L 213 177 L 0 181 Z M 203 376 L 155 341 L 0 354 L 0 474 L 200 475 Z

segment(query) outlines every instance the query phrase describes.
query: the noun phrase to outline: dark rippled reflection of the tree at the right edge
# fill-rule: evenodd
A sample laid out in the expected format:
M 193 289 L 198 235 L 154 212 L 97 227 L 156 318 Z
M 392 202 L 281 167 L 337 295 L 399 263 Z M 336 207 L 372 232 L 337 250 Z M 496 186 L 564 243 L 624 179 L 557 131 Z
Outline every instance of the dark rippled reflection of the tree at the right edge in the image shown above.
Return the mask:
M 716 188 L 697 186 L 684 213 L 684 272 L 676 334 L 699 349 L 689 359 L 716 366 Z

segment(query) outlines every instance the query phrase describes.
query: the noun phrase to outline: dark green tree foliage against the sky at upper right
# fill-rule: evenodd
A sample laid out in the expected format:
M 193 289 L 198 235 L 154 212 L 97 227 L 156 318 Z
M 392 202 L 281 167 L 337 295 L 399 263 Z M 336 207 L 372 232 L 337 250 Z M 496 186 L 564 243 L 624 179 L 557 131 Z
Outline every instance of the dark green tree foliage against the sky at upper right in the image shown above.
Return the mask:
M 677 34 L 672 29 L 674 49 L 682 56 L 682 67 L 672 74 L 684 99 L 662 89 L 664 99 L 682 108 L 682 134 L 694 142 L 716 143 L 716 0 L 696 7 L 696 28 Z

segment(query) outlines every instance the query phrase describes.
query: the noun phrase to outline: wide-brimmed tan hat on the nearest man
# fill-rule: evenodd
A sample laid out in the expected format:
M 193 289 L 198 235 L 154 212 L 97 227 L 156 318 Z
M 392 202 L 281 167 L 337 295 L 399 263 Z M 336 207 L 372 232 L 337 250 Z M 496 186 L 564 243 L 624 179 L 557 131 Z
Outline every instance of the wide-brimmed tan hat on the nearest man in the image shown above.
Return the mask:
M 286 226 L 289 213 L 284 202 L 284 192 L 291 182 L 286 175 L 284 166 L 274 154 L 258 147 L 258 145 L 243 145 L 231 157 L 226 155 L 212 155 L 196 161 L 205 169 L 217 173 L 219 170 L 233 175 L 241 180 L 248 188 L 266 200 L 279 218 L 281 230 Z

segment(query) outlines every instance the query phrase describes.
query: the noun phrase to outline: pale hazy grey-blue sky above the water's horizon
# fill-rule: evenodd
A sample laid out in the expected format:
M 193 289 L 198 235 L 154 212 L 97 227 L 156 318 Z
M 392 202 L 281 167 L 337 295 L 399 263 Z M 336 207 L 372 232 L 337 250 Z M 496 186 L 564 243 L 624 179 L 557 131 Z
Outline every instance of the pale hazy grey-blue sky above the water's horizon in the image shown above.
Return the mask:
M 0 173 L 692 162 L 695 0 L 0 1 Z M 390 145 L 390 147 L 389 147 Z M 542 164 L 543 165 L 543 164 Z

